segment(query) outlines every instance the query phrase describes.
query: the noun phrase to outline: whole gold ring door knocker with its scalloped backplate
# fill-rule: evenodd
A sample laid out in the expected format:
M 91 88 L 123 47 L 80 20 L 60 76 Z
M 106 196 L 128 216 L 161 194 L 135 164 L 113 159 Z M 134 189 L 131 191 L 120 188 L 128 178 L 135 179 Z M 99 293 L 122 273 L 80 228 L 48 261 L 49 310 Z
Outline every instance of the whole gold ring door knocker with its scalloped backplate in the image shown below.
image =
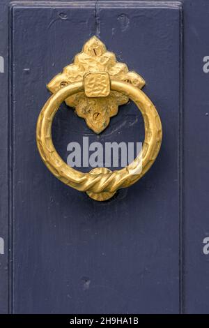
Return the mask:
M 116 61 L 114 53 L 95 36 L 85 43 L 74 63 L 66 66 L 47 84 L 52 96 L 38 117 L 36 140 L 42 161 L 64 184 L 84 191 L 93 200 L 108 200 L 118 189 L 137 182 L 153 165 L 162 142 L 162 125 L 157 110 L 141 91 L 145 81 L 127 66 Z M 130 165 L 111 171 L 96 167 L 88 173 L 79 172 L 59 156 L 52 142 L 52 121 L 63 101 L 75 107 L 79 117 L 95 133 L 107 128 L 110 117 L 118 112 L 118 105 L 133 100 L 144 118 L 143 147 Z

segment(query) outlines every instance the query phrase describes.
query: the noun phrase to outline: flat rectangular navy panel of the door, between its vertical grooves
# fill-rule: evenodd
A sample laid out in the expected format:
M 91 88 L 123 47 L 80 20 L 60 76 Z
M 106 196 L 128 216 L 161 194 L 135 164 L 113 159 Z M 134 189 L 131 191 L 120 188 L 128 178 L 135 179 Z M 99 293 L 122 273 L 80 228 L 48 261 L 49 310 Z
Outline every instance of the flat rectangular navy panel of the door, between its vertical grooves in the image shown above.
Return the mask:
M 180 5 L 20 3 L 10 22 L 13 313 L 178 313 Z M 164 133 L 150 171 L 109 202 L 62 184 L 36 147 L 45 85 L 93 35 L 144 77 Z M 83 136 L 143 142 L 144 122 L 129 103 L 97 136 L 63 104 L 52 134 L 66 161 Z

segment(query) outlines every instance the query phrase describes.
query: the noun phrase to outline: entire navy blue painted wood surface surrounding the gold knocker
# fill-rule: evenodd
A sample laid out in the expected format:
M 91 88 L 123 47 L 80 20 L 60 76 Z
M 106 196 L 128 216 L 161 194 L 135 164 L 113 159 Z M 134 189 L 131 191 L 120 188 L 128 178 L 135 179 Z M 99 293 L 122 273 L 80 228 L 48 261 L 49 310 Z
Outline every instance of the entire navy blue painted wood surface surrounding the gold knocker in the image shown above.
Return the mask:
M 208 313 L 208 258 L 203 254 L 208 236 L 208 75 L 203 58 L 208 54 L 209 3 L 182 1 L 180 88 L 180 3 L 129 1 L 129 8 L 123 8 L 120 1 L 85 2 L 52 6 L 28 1 L 23 6 L 17 1 L 19 6 L 10 10 L 10 47 L 8 1 L 0 4 L 0 55 L 5 59 L 5 73 L 0 73 L 0 237 L 5 241 L 0 311 Z M 146 79 L 144 91 L 160 112 L 165 136 L 147 176 L 105 204 L 56 181 L 35 144 L 36 118 L 49 96 L 45 84 L 93 34 Z M 94 138 L 64 105 L 53 135 L 63 158 L 70 138 Z M 121 108 L 100 140 L 123 137 L 143 139 L 134 105 Z

